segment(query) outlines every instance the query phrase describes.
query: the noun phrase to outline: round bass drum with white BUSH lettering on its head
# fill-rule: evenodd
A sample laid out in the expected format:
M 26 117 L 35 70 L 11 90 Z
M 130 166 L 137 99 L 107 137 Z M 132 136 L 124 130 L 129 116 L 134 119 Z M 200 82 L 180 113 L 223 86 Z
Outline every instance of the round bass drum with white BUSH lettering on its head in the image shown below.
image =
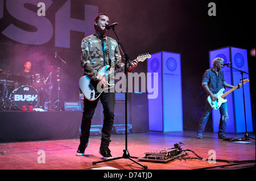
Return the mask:
M 35 108 L 39 103 L 39 95 L 34 87 L 21 86 L 11 92 L 10 100 L 20 110 L 22 110 L 22 106 L 33 106 Z

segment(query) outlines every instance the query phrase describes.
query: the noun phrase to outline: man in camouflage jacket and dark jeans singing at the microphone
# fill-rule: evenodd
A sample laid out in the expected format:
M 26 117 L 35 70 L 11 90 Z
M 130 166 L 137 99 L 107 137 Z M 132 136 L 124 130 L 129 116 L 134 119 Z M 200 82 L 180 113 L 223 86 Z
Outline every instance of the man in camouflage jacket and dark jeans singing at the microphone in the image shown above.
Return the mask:
M 80 65 L 84 69 L 85 75 L 98 82 L 101 86 L 107 85 L 106 79 L 98 71 L 105 65 L 110 68 L 121 68 L 124 64 L 121 62 L 121 54 L 117 41 L 105 35 L 106 26 L 109 24 L 109 17 L 104 13 L 98 14 L 93 26 L 95 33 L 85 37 L 81 43 Z M 137 61 L 131 63 L 128 70 L 137 66 Z M 102 136 L 100 145 L 100 154 L 104 159 L 113 158 L 110 154 L 109 143 L 114 124 L 114 106 L 115 93 L 102 92 L 100 95 L 101 104 L 104 108 L 104 124 L 102 126 Z M 84 155 L 85 149 L 89 144 L 90 125 L 98 100 L 84 99 L 84 112 L 82 113 L 80 145 L 77 149 L 77 156 Z

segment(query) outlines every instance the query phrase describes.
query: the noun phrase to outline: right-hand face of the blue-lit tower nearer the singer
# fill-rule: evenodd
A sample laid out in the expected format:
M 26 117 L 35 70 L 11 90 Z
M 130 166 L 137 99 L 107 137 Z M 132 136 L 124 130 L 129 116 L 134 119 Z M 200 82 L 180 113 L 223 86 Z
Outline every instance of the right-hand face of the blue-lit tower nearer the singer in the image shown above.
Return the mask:
M 163 52 L 164 132 L 183 131 L 180 54 Z

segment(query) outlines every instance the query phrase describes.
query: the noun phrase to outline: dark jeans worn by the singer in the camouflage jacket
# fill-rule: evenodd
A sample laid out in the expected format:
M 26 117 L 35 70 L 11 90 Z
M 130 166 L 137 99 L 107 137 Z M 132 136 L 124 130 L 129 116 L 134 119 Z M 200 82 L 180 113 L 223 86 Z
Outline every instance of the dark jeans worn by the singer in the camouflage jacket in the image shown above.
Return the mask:
M 97 107 L 99 99 L 90 101 L 84 99 L 84 112 L 82 113 L 80 143 L 86 144 L 90 136 L 90 125 L 94 111 Z M 109 146 L 110 136 L 114 124 L 114 107 L 115 107 L 115 93 L 102 92 L 100 95 L 101 104 L 103 106 L 104 123 L 102 126 L 101 146 Z

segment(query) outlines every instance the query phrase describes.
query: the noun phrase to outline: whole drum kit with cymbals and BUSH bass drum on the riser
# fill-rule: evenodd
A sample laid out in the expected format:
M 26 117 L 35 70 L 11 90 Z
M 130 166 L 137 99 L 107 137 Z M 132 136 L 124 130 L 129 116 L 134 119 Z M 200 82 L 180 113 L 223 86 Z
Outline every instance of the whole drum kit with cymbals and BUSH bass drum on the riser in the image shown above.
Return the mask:
M 45 79 L 33 74 L 31 79 L 12 75 L 0 69 L 0 110 L 20 111 L 24 106 L 34 110 L 55 111 L 60 108 L 60 68 L 48 66 Z M 57 81 L 57 100 L 52 98 L 53 81 Z

